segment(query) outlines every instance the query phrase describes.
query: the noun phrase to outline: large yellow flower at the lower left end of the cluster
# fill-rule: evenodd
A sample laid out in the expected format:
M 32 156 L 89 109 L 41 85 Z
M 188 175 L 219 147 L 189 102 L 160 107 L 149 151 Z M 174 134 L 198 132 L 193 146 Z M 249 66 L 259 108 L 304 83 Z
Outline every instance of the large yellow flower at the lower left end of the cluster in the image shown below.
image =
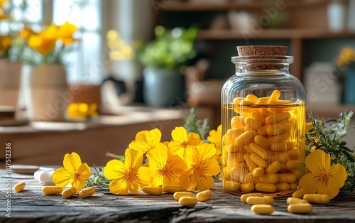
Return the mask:
M 138 191 L 149 185 L 149 168 L 141 166 L 143 153 L 133 148 L 127 148 L 126 160 L 109 161 L 104 168 L 104 176 L 112 180 L 109 184 L 110 192 L 115 195 L 127 195 L 130 191 L 138 194 Z

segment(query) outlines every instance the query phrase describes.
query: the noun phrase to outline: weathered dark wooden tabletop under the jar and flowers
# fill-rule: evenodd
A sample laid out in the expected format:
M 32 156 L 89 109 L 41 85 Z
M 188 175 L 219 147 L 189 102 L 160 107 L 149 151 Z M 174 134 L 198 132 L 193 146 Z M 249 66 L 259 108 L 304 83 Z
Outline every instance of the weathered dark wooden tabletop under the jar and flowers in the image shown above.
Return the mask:
M 97 190 L 94 196 L 63 199 L 61 195 L 43 195 L 33 179 L 9 179 L 1 175 L 0 222 L 355 222 L 355 192 L 338 196 L 327 205 L 313 205 L 309 214 L 290 214 L 285 197 L 275 198 L 275 212 L 254 214 L 239 196 L 214 185 L 213 196 L 195 207 L 181 207 L 172 194 L 111 195 Z M 11 218 L 6 217 L 6 185 L 27 183 L 23 192 L 11 191 Z M 5 206 L 4 206 L 5 205 Z

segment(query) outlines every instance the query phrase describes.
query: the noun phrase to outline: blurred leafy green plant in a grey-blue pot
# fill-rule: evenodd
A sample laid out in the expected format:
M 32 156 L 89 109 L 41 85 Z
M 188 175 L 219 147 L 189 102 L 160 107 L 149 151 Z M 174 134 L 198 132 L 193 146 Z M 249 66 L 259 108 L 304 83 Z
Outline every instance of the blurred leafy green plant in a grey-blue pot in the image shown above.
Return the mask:
M 151 107 L 170 107 L 179 102 L 185 92 L 182 70 L 195 57 L 196 28 L 155 27 L 155 40 L 141 53 L 143 99 Z

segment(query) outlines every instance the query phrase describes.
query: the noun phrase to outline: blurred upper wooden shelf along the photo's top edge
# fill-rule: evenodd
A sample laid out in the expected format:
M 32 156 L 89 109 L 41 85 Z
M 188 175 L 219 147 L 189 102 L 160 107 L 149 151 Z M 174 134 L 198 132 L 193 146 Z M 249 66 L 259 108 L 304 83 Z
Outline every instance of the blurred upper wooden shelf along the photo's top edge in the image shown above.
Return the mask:
M 296 7 L 319 7 L 327 6 L 331 0 L 317 1 L 285 1 L 290 8 Z M 230 9 L 262 9 L 263 7 L 275 6 L 270 1 L 249 1 L 249 2 L 193 2 L 193 1 L 172 1 L 161 8 L 163 11 L 225 11 Z

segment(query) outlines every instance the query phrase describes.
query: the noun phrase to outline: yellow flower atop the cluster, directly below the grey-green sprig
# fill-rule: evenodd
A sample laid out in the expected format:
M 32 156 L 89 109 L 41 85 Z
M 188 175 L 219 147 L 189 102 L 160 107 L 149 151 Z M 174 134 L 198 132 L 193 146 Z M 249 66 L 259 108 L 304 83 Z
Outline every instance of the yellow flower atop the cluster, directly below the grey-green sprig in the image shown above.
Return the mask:
M 181 158 L 185 158 L 187 151 L 202 143 L 198 134 L 193 132 L 187 134 L 186 129 L 181 126 L 171 131 L 171 136 L 173 137 L 173 141 L 169 143 L 171 153 L 177 154 Z

